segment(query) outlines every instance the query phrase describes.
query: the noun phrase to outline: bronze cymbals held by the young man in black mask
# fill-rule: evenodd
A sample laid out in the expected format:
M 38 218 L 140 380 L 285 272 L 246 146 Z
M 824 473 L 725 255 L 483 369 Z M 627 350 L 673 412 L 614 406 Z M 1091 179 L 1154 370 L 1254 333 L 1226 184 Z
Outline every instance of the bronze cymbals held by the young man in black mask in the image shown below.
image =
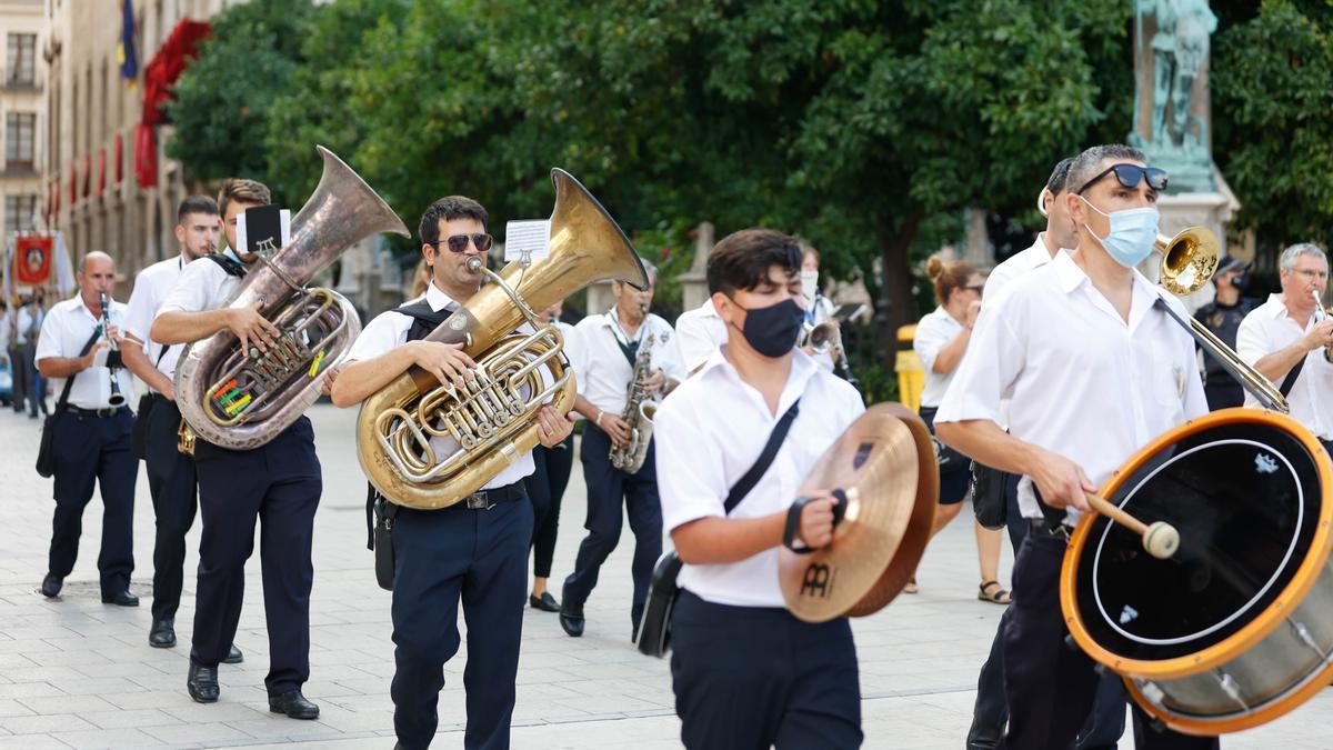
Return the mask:
M 806 622 L 865 617 L 902 591 L 930 539 L 940 470 L 930 432 L 898 403 L 866 410 L 833 443 L 801 494 L 841 488 L 846 512 L 833 540 L 810 554 L 782 548 L 786 609 Z

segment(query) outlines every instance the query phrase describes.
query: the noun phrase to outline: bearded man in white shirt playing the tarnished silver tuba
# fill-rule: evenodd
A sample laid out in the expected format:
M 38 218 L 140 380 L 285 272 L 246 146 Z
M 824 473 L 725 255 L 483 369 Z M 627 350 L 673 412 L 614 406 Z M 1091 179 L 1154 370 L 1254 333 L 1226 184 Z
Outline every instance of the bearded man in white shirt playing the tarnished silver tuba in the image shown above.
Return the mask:
M 217 206 L 227 250 L 191 263 L 180 274 L 153 318 L 149 339 L 163 346 L 204 340 L 231 331 L 243 350 L 275 346 L 279 330 L 257 307 L 231 308 L 227 302 L 259 255 L 236 246 L 236 218 L 247 208 L 267 206 L 268 188 L 255 180 L 228 179 Z M 311 543 L 323 478 L 315 454 L 311 420 L 299 418 L 271 442 L 232 451 L 195 442 L 199 508 L 199 583 L 195 633 L 185 687 L 200 703 L 219 697 L 217 665 L 232 653 L 232 639 L 245 593 L 245 560 L 260 527 L 264 577 L 264 617 L 268 625 L 269 671 L 264 678 L 268 707 L 295 719 L 315 719 L 320 707 L 305 699 L 301 686 L 311 677 Z

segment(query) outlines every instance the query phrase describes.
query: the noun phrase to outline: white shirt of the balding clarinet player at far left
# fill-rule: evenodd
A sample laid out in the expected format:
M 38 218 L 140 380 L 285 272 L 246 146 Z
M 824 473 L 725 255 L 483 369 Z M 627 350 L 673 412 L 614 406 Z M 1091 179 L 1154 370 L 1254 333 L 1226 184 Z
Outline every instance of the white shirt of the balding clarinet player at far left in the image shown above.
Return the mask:
M 125 306 L 111 302 L 111 324 L 121 326 L 125 319 Z M 83 298 L 75 295 L 47 312 L 47 319 L 41 323 L 41 336 L 37 339 L 37 352 L 33 359 L 40 363 L 48 358 L 76 358 L 88 343 L 92 332 L 101 326 L 97 318 L 83 303 Z M 105 331 L 101 334 L 105 335 Z M 96 344 L 96 342 L 93 342 Z M 73 387 L 69 388 L 69 404 L 79 408 L 107 408 L 111 406 L 111 370 L 107 368 L 107 351 L 101 350 L 93 358 L 93 366 L 83 370 L 75 378 Z M 120 384 L 120 394 L 129 399 L 135 395 L 135 376 L 129 370 L 121 367 L 116 371 Z M 59 398 L 65 388 L 67 378 L 52 378 L 51 387 Z

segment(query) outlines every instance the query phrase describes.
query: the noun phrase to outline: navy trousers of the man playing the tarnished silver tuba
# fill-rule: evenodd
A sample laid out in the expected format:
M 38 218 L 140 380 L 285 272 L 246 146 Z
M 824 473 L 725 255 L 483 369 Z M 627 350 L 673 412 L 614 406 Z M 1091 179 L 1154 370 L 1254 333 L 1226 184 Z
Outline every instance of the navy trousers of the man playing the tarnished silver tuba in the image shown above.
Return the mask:
M 251 451 L 197 440 L 195 467 L 204 532 L 189 658 L 217 666 L 231 650 L 260 520 L 269 651 L 264 685 L 269 695 L 296 690 L 311 677 L 311 540 L 323 490 L 311 420 L 297 419 Z

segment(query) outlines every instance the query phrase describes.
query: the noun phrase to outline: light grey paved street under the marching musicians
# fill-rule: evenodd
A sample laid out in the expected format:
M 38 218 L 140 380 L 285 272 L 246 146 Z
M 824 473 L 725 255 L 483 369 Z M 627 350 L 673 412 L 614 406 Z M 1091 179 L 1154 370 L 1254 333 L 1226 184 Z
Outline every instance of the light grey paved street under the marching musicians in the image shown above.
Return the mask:
M 60 601 L 35 590 L 45 573 L 51 530 L 51 480 L 32 468 L 37 420 L 0 411 L 0 749 L 4 747 L 235 747 L 295 743 L 303 747 L 391 747 L 393 674 L 389 595 L 375 585 L 365 550 L 365 483 L 353 452 L 355 411 L 317 406 L 324 500 L 316 516 L 312 597 L 312 679 L 305 694 L 323 715 L 299 722 L 268 713 L 268 669 L 257 556 L 249 563 L 237 645 L 245 663 L 221 667 L 217 705 L 191 702 L 185 666 L 193 618 L 187 575 L 176 621 L 181 645 L 148 647 L 152 579 L 152 504 L 140 475 L 135 551 L 137 609 L 101 605 L 95 560 L 100 500 L 84 518 L 79 565 Z M 565 496 L 555 590 L 568 574 L 581 538 L 583 480 Z M 966 511 L 965 511 L 966 512 Z M 191 534 L 189 571 L 197 560 L 199 524 Z M 588 602 L 588 631 L 565 637 L 553 614 L 528 610 L 524 623 L 513 745 L 537 747 L 678 747 L 666 663 L 629 643 L 629 551 L 616 550 Z M 866 747 L 962 746 L 977 669 L 1001 609 L 976 599 L 970 526 L 954 522 L 921 566 L 921 594 L 856 622 Z M 1008 581 L 1009 552 L 1004 577 Z M 440 695 L 436 746 L 460 747 L 464 653 L 448 666 Z M 1234 735 L 1229 749 L 1333 747 L 1333 693 L 1325 691 L 1273 725 Z M 1128 747 L 1130 742 L 1122 743 Z

